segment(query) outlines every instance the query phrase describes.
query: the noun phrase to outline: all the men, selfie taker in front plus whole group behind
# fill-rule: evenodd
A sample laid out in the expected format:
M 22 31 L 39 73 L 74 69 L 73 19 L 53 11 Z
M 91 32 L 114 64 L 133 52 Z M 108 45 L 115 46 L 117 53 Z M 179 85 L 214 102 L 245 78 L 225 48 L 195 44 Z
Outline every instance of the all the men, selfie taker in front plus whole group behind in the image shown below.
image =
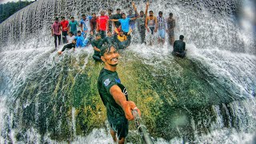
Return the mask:
M 165 42 L 167 33 L 170 45 L 174 46 L 173 54 L 181 58 L 186 55 L 184 36 L 180 35 L 179 40 L 174 42 L 175 20 L 172 13 L 169 18 L 163 18 L 162 11 L 159 11 L 158 17 L 155 17 L 152 10 L 149 10 L 149 15 L 147 14 L 149 2 L 146 2 L 145 12 L 140 11 L 139 14 L 134 2 L 132 2 L 132 6 L 135 14 L 133 14 L 133 10 L 129 10 L 127 16 L 121 13 L 120 9 L 116 10 L 116 14 L 112 14 L 112 10 L 109 9 L 108 15 L 104 10 L 100 11 L 100 16 L 95 13 L 92 16 L 82 14 L 80 22 L 75 21 L 74 17 L 70 18 L 70 22 L 64 17 L 61 22 L 55 18 L 52 25 L 55 49 L 57 50 L 57 46 L 60 45 L 61 34 L 63 43 L 67 43 L 61 51 L 58 51 L 58 54 L 62 54 L 66 49 L 73 48 L 75 50 L 77 47 L 91 45 L 94 48 L 94 60 L 104 62 L 105 66 L 102 68 L 97 82 L 98 93 L 106 106 L 110 134 L 114 142 L 118 143 L 125 142 L 129 130 L 128 121 L 134 119 L 134 110 L 140 115 L 136 104 L 128 100 L 126 87 L 122 85 L 118 77 L 116 71 L 119 62 L 118 50 L 130 46 L 132 33 L 138 33 L 141 43 L 146 43 L 147 30 L 151 36 L 155 33 L 158 34 L 159 43 Z M 78 26 L 81 27 L 81 30 L 78 30 Z M 138 26 L 138 30 L 135 30 L 136 26 Z M 149 45 L 151 44 L 149 43 Z

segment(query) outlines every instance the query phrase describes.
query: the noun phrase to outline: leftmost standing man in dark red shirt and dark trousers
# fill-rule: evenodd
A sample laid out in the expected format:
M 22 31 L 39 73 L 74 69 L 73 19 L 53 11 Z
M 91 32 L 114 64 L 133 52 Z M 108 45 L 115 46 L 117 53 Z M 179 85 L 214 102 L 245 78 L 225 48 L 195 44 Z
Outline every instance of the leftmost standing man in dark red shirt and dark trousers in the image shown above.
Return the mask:
M 55 18 L 54 24 L 51 26 L 51 35 L 54 36 L 55 50 L 57 50 L 57 37 L 58 45 L 61 44 L 61 23 L 58 22 L 58 18 Z

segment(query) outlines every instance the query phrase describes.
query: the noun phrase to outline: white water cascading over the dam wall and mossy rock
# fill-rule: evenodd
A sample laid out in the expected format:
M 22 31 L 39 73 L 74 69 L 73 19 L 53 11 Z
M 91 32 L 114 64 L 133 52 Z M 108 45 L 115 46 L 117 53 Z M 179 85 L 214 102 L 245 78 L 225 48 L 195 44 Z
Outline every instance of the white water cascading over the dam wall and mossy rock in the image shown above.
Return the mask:
M 151 2 L 155 15 L 174 13 L 187 58 L 171 56 L 167 44 L 134 42 L 121 52 L 118 74 L 156 143 L 254 142 L 255 35 L 237 18 L 248 2 Z M 91 46 L 52 53 L 50 37 L 55 16 L 78 20 L 109 7 L 131 8 L 126 1 L 39 0 L 2 22 L 0 143 L 112 142 L 96 86 L 103 65 L 94 63 Z M 133 122 L 127 142 L 140 142 Z

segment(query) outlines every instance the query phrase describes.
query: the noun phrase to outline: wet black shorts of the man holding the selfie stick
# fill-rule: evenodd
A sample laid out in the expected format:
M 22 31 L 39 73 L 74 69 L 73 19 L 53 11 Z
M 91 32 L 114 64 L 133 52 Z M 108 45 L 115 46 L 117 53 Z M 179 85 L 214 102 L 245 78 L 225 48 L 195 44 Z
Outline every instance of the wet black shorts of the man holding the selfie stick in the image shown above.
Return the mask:
M 110 127 L 118 134 L 118 139 L 126 138 L 129 130 L 129 123 L 126 117 L 108 118 Z

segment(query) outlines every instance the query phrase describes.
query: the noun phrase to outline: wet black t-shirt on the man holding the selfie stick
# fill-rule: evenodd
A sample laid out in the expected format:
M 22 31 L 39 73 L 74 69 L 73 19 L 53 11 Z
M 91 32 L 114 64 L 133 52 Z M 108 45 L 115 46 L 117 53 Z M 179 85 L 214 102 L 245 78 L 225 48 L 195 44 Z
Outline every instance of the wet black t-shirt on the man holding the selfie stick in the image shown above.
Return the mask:
M 107 117 L 110 119 L 125 117 L 122 107 L 115 102 L 110 94 L 110 88 L 114 85 L 120 87 L 122 93 L 126 96 L 126 100 L 128 100 L 126 88 L 121 84 L 118 73 L 102 68 L 98 77 L 98 93 L 102 98 L 104 106 L 106 106 Z

